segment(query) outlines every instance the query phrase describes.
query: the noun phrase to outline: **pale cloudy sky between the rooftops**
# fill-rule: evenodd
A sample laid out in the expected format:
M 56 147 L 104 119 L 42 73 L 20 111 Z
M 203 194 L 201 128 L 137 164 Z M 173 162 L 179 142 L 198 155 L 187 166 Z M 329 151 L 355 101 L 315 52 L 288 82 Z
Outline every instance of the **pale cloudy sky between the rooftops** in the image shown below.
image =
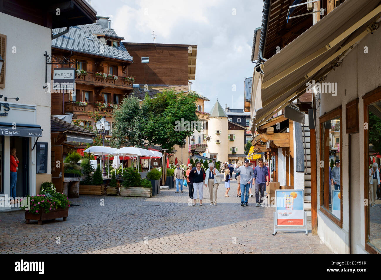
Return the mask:
M 223 107 L 242 108 L 244 80 L 253 75 L 250 62 L 253 32 L 261 26 L 262 0 L 91 0 L 99 16 L 125 42 L 192 44 L 197 46 L 192 90 Z M 234 15 L 235 14 L 235 15 Z M 233 91 L 234 86 L 236 91 Z

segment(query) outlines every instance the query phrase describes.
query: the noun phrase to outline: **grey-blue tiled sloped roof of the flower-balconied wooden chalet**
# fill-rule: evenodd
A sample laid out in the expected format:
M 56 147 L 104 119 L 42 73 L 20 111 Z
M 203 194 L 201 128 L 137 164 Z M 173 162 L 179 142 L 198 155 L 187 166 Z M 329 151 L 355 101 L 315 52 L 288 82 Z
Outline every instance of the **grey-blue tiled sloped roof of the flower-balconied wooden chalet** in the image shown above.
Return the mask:
M 66 27 L 53 29 L 53 34 L 66 30 Z M 118 47 L 108 46 L 97 38 L 101 34 L 106 37 L 123 40 L 118 37 L 114 29 L 104 28 L 98 23 L 72 26 L 69 32 L 51 41 L 52 48 L 76 51 L 79 53 L 93 54 L 105 58 L 119 59 L 132 62 L 132 57 L 122 42 Z

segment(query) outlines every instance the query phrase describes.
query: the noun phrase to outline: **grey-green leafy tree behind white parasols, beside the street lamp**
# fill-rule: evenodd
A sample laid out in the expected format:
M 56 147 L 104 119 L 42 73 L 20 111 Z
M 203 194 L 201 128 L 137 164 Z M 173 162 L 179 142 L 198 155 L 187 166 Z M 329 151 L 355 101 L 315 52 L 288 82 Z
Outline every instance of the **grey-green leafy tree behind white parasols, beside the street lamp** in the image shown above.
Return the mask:
M 112 130 L 113 147 L 126 146 L 143 147 L 144 140 L 144 117 L 139 99 L 135 96 L 123 98 L 122 103 L 114 109 L 114 123 Z M 156 127 L 157 129 L 157 127 Z

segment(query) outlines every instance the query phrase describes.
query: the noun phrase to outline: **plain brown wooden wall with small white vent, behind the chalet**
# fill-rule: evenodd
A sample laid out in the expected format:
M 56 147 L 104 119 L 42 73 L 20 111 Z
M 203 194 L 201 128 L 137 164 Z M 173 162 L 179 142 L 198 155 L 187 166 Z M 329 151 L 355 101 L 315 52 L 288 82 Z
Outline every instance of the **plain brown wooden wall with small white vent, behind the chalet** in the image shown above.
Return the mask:
M 189 46 L 174 44 L 126 43 L 123 42 L 134 63 L 129 67 L 129 74 L 136 83 L 147 85 L 188 85 L 188 50 Z M 141 58 L 149 57 L 149 63 L 142 63 Z

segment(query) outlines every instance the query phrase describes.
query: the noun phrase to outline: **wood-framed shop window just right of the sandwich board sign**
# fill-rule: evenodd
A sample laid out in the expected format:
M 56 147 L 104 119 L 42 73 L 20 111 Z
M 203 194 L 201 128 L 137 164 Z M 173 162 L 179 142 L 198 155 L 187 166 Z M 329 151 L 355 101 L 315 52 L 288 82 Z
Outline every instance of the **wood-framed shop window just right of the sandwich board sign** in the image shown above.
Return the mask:
M 320 210 L 343 226 L 341 107 L 320 117 Z

